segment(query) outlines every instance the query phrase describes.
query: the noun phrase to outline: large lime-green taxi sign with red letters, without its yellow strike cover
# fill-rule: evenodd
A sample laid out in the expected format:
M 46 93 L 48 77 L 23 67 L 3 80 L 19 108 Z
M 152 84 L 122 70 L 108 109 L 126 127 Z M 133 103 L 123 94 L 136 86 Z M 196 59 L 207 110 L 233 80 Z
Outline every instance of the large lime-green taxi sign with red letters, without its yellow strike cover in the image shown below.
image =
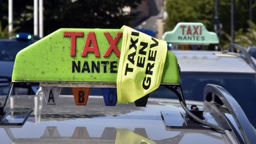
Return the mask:
M 116 82 L 122 40 L 121 29 L 61 28 L 17 54 L 12 81 Z M 161 82 L 180 83 L 171 52 Z

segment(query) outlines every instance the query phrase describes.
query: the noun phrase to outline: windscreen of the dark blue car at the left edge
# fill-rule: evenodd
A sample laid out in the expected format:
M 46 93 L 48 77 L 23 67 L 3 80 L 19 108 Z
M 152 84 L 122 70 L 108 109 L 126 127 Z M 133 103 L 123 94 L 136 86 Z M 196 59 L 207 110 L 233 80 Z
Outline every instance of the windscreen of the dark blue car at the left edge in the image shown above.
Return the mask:
M 28 44 L 27 41 L 0 41 L 0 61 L 14 61 L 17 53 Z

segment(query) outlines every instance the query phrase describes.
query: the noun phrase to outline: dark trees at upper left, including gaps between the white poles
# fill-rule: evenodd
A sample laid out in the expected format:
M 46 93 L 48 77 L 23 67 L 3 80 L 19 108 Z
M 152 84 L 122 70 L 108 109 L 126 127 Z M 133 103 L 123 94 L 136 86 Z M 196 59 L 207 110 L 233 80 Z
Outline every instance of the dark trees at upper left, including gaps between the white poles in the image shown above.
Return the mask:
M 59 28 L 120 28 L 129 25 L 136 14 L 123 12 L 136 8 L 142 0 L 44 0 L 44 34 Z M 14 1 L 14 27 L 33 33 L 33 1 Z M 0 0 L 0 20 L 8 24 L 8 1 Z

